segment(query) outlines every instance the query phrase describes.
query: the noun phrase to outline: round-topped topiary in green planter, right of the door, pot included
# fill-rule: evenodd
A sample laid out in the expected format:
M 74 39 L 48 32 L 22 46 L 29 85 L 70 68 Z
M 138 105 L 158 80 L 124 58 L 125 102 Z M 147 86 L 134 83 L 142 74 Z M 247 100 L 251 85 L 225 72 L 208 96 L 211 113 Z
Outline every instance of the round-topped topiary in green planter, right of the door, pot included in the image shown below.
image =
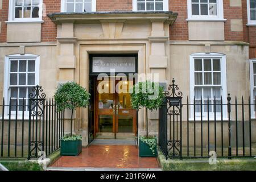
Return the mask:
M 133 86 L 131 105 L 133 109 L 146 108 L 146 136 L 139 137 L 139 156 L 156 157 L 156 137 L 148 136 L 148 110 L 156 110 L 162 105 L 163 87 L 158 82 L 138 82 Z

